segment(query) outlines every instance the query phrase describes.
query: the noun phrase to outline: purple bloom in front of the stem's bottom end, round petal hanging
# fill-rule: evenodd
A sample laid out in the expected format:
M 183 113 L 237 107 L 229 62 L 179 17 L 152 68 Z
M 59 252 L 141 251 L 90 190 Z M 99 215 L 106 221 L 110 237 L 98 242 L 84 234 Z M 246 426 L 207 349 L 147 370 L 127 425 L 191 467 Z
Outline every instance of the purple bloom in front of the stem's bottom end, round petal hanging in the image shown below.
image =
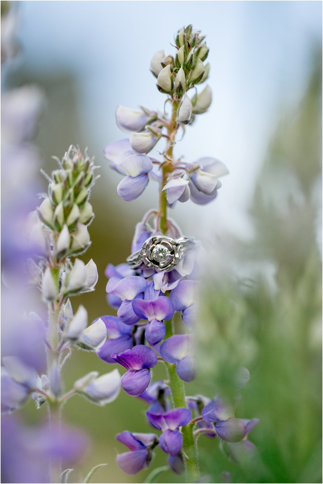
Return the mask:
M 162 430 L 159 438 L 159 446 L 172 456 L 179 454 L 183 445 L 183 436 L 178 427 L 187 425 L 192 418 L 192 412 L 188 408 L 174 408 L 166 413 L 146 412 L 148 419 L 155 427 Z

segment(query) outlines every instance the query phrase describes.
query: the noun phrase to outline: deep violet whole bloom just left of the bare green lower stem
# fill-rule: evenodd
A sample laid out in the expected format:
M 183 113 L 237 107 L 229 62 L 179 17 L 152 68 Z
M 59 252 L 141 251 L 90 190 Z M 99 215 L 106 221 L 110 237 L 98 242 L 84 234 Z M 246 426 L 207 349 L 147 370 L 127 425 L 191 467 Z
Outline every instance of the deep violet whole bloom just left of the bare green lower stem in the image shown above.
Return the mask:
M 111 358 L 127 369 L 121 378 L 123 390 L 132 396 L 138 396 L 150 383 L 150 368 L 157 364 L 156 353 L 147 346 L 137 345 L 123 353 L 112 354 Z

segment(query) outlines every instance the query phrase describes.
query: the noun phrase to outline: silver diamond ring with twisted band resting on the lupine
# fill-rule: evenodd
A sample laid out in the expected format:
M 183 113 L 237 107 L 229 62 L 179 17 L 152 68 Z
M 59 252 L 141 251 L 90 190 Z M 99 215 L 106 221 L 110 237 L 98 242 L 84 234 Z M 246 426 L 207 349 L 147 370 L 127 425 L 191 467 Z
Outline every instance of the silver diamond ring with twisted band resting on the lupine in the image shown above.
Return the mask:
M 169 272 L 195 244 L 195 239 L 189 237 L 172 239 L 166 235 L 154 235 L 142 244 L 140 250 L 127 257 L 126 261 L 131 269 L 149 267 L 156 272 Z

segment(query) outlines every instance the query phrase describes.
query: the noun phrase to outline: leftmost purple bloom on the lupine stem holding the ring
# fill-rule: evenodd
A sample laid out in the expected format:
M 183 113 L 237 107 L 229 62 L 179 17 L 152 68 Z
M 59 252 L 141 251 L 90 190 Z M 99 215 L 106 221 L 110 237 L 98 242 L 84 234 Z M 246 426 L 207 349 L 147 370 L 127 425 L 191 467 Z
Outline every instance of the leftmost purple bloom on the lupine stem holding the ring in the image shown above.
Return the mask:
M 115 363 L 111 358 L 112 353 L 122 353 L 133 348 L 132 329 L 115 316 L 101 316 L 101 319 L 106 325 L 108 339 L 96 354 L 106 363 Z

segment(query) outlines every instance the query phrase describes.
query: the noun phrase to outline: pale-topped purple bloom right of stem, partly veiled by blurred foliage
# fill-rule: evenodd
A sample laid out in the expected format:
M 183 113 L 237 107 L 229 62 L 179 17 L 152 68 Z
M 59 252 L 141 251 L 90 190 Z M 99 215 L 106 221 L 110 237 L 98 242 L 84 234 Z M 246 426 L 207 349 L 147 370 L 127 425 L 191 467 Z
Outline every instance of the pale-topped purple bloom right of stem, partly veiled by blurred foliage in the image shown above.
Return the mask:
M 160 356 L 167 363 L 176 364 L 177 375 L 184 381 L 190 382 L 196 378 L 197 368 L 192 352 L 192 339 L 188 334 L 175 334 L 160 346 Z

